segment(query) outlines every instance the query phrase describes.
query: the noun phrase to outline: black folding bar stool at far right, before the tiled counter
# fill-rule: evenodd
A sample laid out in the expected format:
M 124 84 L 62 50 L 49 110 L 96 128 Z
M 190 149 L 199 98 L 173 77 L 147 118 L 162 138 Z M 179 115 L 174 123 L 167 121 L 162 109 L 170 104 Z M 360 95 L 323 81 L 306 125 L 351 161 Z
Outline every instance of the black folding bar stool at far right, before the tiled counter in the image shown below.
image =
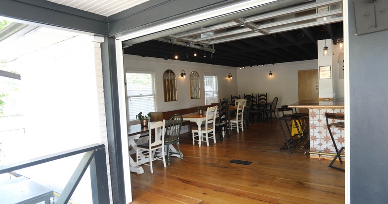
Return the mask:
M 345 147 L 341 147 L 341 149 L 338 151 L 336 141 L 334 140 L 334 136 L 333 136 L 333 133 L 331 132 L 331 128 L 330 128 L 330 127 L 333 127 L 333 129 L 334 129 L 334 127 L 345 128 L 345 122 L 344 122 L 345 114 L 343 114 L 343 113 L 324 113 L 324 115 L 326 116 L 327 130 L 329 130 L 331 140 L 333 141 L 334 149 L 336 150 L 336 153 L 337 153 L 336 156 L 334 156 L 333 161 L 331 161 L 331 163 L 329 164 L 329 168 L 345 171 L 344 169 L 341 169 L 338 167 L 333 167 L 333 164 L 337 160 L 337 158 L 339 159 L 339 162 L 342 164 L 342 159 L 341 159 L 340 154 L 342 153 L 343 150 L 345 150 Z M 333 122 L 329 123 L 329 119 L 333 119 Z M 336 122 L 336 120 L 341 120 L 341 121 Z

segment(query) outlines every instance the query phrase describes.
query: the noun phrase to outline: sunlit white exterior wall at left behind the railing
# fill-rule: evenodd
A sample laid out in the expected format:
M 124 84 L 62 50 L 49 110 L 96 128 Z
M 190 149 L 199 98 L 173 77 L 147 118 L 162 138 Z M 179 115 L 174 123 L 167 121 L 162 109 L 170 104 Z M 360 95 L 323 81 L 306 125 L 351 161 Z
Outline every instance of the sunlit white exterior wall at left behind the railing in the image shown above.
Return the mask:
M 93 40 L 89 35 L 78 35 L 16 59 L 13 66 L 20 71 L 23 83 L 25 135 L 10 141 L 14 143 L 9 143 L 14 148 L 7 151 L 10 161 L 94 143 L 108 146 L 101 51 Z M 82 156 L 17 172 L 60 193 Z M 71 200 L 92 203 L 88 170 Z

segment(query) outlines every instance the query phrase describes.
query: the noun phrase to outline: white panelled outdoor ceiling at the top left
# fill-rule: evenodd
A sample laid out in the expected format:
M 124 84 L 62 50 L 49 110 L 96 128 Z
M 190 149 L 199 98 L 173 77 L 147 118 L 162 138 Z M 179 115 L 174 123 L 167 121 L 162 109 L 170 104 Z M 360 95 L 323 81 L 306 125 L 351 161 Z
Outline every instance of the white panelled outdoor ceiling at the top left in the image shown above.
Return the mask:
M 54 3 L 109 17 L 148 0 L 48 0 Z

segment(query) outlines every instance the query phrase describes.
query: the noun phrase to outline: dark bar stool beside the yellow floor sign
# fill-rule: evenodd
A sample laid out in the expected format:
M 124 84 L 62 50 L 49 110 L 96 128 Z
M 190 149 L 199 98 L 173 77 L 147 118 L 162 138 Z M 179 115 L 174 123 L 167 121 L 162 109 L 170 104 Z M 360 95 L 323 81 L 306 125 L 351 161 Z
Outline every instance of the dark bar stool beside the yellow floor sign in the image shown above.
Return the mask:
M 282 117 L 279 116 L 279 112 L 282 113 Z M 305 146 L 308 144 L 308 132 L 301 132 L 300 130 L 302 129 L 302 120 L 306 119 L 306 116 L 308 114 L 306 113 L 296 113 L 294 112 L 293 108 L 288 108 L 286 106 L 282 106 L 281 108 L 276 109 L 276 115 L 277 118 L 279 119 L 279 124 L 280 128 L 282 130 L 282 134 L 284 136 L 285 143 L 284 145 L 280 148 L 280 150 L 285 149 L 286 147 L 288 148 L 290 154 L 291 154 L 291 149 L 295 148 L 298 144 L 302 143 L 302 146 Z M 290 135 L 290 138 L 287 139 L 286 133 L 284 131 L 282 121 L 287 127 L 288 133 Z M 289 124 L 289 122 L 291 124 Z M 295 128 L 297 129 L 298 134 L 292 135 L 290 126 L 294 124 Z

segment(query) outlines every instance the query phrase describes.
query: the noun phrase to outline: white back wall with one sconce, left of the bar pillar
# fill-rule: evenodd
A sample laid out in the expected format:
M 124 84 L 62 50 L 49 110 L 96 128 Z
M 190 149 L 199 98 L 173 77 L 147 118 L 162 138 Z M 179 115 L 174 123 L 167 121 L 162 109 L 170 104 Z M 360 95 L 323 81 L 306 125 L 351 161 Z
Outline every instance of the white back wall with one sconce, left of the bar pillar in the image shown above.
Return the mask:
M 238 94 L 267 93 L 268 102 L 278 98 L 277 107 L 298 102 L 298 70 L 318 69 L 318 60 L 307 60 L 237 70 Z M 268 74 L 272 72 L 272 77 Z

